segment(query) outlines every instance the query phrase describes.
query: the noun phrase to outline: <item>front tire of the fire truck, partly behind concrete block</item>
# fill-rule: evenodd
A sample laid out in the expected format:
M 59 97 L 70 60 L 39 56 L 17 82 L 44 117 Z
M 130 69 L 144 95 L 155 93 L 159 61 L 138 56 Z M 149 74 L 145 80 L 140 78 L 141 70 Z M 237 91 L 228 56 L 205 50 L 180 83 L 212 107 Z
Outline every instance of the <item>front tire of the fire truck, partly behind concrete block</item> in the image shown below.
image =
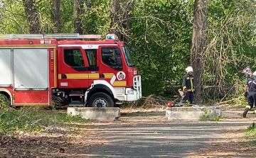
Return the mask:
M 114 107 L 114 101 L 108 94 L 98 92 L 89 98 L 88 106 L 92 108 L 111 108 Z

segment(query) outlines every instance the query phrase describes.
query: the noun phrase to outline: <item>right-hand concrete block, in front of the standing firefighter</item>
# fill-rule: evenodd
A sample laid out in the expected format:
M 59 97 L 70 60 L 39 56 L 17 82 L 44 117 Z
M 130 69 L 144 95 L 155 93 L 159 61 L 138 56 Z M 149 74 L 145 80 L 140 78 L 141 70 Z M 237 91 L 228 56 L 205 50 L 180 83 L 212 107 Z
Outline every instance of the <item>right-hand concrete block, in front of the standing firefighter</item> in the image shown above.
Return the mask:
M 215 116 L 221 116 L 221 107 L 173 107 L 166 108 L 166 118 L 168 120 L 212 120 Z

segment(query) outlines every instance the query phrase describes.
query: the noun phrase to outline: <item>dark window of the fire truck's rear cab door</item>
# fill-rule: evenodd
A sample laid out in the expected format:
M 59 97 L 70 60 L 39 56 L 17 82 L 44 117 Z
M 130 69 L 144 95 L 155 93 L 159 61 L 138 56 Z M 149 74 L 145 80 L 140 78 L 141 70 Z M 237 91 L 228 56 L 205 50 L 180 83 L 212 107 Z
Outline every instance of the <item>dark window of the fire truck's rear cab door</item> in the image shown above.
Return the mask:
M 80 49 L 64 49 L 64 62 L 70 67 L 85 67 Z

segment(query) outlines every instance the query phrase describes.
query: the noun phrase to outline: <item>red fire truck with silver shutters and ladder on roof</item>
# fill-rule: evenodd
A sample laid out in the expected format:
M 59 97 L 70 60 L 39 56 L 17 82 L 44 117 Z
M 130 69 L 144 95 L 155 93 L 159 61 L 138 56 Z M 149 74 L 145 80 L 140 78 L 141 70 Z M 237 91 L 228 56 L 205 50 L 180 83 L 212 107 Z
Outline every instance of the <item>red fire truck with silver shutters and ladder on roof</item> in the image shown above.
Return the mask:
M 11 106 L 95 108 L 137 101 L 142 85 L 130 57 L 134 48 L 116 35 L 95 39 L 101 36 L 0 35 L 1 98 Z

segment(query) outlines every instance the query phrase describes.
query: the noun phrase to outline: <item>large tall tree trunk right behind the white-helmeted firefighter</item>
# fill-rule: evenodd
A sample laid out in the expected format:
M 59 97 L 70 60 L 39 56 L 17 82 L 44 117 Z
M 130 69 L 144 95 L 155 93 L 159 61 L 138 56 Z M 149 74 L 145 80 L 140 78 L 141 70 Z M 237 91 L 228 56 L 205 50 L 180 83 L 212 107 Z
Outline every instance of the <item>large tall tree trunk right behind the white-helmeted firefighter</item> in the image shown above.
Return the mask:
M 194 84 L 196 86 L 196 99 L 202 102 L 201 87 L 203 81 L 203 54 L 206 47 L 208 0 L 195 0 L 193 15 L 193 35 L 191 47 L 191 65 L 194 72 Z

